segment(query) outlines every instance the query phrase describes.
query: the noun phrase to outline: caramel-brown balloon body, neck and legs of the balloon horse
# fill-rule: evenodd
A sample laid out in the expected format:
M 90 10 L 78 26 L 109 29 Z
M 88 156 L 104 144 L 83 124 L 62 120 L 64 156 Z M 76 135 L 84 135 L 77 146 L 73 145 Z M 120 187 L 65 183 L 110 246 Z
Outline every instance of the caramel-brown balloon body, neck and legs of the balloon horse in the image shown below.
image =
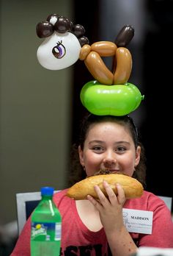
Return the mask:
M 101 57 L 114 57 L 113 72 L 109 71 Z M 128 82 L 132 70 L 132 57 L 125 47 L 100 41 L 81 48 L 80 60 L 84 60 L 89 72 L 103 85 L 122 85 Z

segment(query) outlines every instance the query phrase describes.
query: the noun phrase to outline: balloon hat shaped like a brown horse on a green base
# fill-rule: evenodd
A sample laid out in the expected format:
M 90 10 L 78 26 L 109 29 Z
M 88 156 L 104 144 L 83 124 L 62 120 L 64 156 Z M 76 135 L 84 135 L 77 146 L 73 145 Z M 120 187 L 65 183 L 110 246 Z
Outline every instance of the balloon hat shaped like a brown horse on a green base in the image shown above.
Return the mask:
M 132 70 L 132 57 L 126 48 L 133 38 L 133 26 L 123 26 L 115 43 L 100 41 L 89 45 L 84 26 L 73 24 L 57 14 L 48 15 L 37 24 L 37 36 L 45 38 L 37 49 L 37 60 L 44 68 L 60 70 L 84 60 L 95 80 L 81 89 L 84 107 L 95 115 L 128 115 L 139 107 L 140 90 L 128 82 Z M 101 57 L 114 57 L 110 71 Z

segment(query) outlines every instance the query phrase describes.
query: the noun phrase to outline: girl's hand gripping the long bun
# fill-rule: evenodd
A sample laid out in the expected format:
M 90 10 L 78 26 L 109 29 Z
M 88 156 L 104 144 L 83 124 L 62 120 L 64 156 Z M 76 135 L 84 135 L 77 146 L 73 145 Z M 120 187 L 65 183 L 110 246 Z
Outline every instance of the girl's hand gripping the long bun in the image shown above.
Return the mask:
M 117 184 L 116 186 L 117 196 L 106 181 L 103 181 L 103 187 L 108 198 L 100 191 L 97 185 L 95 185 L 95 191 L 99 200 L 94 199 L 92 196 L 87 196 L 89 202 L 99 211 L 100 221 L 106 232 L 116 232 L 116 230 L 119 232 L 124 227 L 122 207 L 125 203 L 125 193 L 121 185 Z

